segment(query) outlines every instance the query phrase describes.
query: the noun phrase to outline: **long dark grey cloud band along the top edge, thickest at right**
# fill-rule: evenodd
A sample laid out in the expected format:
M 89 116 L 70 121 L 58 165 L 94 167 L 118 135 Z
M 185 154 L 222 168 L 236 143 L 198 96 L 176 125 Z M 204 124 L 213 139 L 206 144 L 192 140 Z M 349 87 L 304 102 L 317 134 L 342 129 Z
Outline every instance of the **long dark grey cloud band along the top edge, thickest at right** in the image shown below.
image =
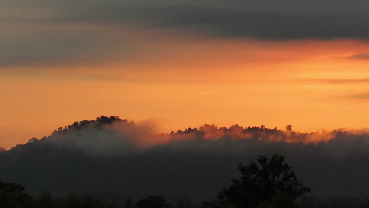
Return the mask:
M 287 40 L 369 37 L 369 3 L 361 0 L 321 2 L 273 1 L 63 1 L 41 4 L 58 11 L 50 23 L 168 27 L 213 37 Z

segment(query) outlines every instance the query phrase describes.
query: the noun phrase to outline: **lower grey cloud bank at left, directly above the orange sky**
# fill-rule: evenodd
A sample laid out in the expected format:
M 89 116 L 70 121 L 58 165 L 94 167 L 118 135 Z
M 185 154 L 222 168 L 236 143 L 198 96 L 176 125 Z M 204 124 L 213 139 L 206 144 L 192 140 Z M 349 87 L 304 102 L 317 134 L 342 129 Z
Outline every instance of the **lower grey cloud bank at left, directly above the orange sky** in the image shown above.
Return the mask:
M 4 26 L 6 35 L 0 35 L 3 68 L 127 62 L 136 60 L 140 53 L 140 44 L 130 37 L 133 31 L 128 36 L 103 26 L 36 25 L 30 30 L 11 27 Z

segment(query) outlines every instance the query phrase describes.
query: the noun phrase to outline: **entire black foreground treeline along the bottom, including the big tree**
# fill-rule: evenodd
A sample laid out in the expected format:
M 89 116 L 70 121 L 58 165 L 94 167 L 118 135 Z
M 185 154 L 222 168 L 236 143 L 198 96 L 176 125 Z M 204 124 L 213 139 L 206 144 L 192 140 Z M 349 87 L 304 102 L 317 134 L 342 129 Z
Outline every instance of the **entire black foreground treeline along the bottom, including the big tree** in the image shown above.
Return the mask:
M 305 197 L 310 188 L 296 177 L 284 157 L 259 156 L 249 165 L 238 164 L 239 179 L 232 179 L 228 188 L 221 190 L 217 199 L 195 204 L 189 199 L 169 203 L 162 195 L 149 195 L 134 201 L 121 200 L 120 203 L 104 200 L 96 195 L 70 194 L 65 198 L 54 198 L 49 191 L 39 197 L 25 193 L 20 184 L 0 181 L 1 208 L 365 208 L 369 199 Z M 180 188 L 180 187 L 179 187 Z

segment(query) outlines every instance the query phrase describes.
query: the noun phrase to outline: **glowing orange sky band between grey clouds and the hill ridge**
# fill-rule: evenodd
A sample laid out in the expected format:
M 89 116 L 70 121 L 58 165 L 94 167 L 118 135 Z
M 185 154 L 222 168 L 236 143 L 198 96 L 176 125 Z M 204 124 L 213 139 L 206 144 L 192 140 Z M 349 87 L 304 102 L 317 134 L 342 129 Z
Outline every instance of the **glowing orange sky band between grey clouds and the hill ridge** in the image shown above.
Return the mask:
M 179 41 L 180 40 L 180 41 Z M 266 125 L 295 131 L 368 127 L 369 43 L 355 40 L 156 38 L 147 55 L 3 66 L 0 146 L 73 121 L 120 115 L 160 130 Z

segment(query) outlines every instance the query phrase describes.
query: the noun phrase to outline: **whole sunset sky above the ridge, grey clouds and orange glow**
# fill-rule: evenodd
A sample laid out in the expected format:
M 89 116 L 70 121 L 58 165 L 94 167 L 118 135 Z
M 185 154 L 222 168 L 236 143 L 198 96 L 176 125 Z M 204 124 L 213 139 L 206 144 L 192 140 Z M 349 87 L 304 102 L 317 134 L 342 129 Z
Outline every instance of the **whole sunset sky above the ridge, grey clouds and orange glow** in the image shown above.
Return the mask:
M 0 147 L 100 115 L 366 128 L 367 0 L 3 0 Z

